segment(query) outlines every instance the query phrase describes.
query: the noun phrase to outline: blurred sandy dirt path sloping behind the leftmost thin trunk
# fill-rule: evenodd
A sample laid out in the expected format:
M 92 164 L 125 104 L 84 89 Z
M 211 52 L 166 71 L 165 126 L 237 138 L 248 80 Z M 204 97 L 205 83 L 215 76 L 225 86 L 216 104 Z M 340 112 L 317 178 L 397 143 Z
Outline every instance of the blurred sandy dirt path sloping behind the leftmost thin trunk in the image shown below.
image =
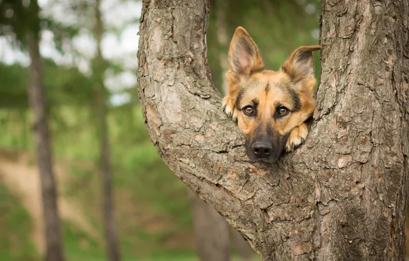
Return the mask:
M 58 188 L 61 188 L 67 176 L 59 166 L 56 166 L 55 169 Z M 44 253 L 43 204 L 41 201 L 38 168 L 28 165 L 25 155 L 19 155 L 17 159 L 10 159 L 2 157 L 0 154 L 0 181 L 20 199 L 27 212 L 32 216 L 34 223 L 32 239 L 36 244 L 38 252 Z M 68 220 L 94 238 L 100 237 L 97 229 L 91 226 L 89 220 L 81 212 L 79 205 L 76 205 L 70 198 L 60 196 L 58 198 L 58 209 L 60 210 L 60 216 L 64 220 Z

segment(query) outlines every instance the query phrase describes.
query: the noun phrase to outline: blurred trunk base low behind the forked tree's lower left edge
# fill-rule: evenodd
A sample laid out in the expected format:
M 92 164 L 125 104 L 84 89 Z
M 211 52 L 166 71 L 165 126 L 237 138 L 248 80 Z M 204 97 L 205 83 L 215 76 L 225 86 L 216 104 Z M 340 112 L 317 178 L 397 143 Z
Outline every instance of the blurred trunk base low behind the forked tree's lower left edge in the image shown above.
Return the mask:
M 229 225 L 220 214 L 188 191 L 199 258 L 202 261 L 229 261 Z

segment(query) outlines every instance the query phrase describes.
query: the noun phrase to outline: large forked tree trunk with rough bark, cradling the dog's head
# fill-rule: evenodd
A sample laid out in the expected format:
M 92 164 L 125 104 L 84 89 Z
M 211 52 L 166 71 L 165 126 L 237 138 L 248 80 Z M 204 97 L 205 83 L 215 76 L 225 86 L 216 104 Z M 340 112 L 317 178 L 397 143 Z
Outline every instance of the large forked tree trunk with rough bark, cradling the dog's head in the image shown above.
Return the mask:
M 403 260 L 408 1 L 322 1 L 322 68 L 305 145 L 248 161 L 209 80 L 209 2 L 143 1 L 138 90 L 165 163 L 264 260 Z

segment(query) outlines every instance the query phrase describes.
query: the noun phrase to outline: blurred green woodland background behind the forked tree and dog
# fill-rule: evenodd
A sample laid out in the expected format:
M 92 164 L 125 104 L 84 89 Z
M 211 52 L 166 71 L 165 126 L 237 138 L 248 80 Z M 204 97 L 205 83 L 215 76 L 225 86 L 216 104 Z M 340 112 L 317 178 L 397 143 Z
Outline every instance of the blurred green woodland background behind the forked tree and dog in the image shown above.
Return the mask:
M 110 147 L 105 155 L 112 163 L 121 260 L 208 261 L 203 249 L 215 240 L 228 253 L 224 260 L 259 260 L 242 236 L 188 192 L 150 141 L 136 91 L 141 7 L 137 0 L 0 0 L 0 261 L 41 260 L 45 251 L 27 95 L 30 30 L 40 34 L 67 260 L 107 260 L 101 133 Z M 318 43 L 319 9 L 318 0 L 211 1 L 207 47 L 215 87 L 226 88 L 237 26 L 255 39 L 266 67 L 277 70 L 296 47 Z M 316 55 L 317 76 L 318 62 Z M 104 113 L 95 97 L 104 99 Z

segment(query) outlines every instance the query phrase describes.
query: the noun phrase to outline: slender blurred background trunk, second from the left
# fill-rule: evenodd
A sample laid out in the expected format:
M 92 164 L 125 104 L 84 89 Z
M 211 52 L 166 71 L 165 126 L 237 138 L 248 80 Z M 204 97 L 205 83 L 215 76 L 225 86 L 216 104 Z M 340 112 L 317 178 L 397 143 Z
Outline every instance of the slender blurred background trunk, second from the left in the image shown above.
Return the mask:
M 117 229 L 115 227 L 115 215 L 113 206 L 112 192 L 112 170 L 110 166 L 110 145 L 107 124 L 106 107 L 106 89 L 104 86 L 104 72 L 106 68 L 105 60 L 102 56 L 101 43 L 104 34 L 102 24 L 102 14 L 100 11 L 100 0 L 95 5 L 95 28 L 94 34 L 97 41 L 97 56 L 93 63 L 93 73 L 95 76 L 95 105 L 97 111 L 97 132 L 100 139 L 100 171 L 102 184 L 102 213 L 104 217 L 106 251 L 108 260 L 119 261 L 121 255 L 119 252 L 119 242 L 117 238 Z

